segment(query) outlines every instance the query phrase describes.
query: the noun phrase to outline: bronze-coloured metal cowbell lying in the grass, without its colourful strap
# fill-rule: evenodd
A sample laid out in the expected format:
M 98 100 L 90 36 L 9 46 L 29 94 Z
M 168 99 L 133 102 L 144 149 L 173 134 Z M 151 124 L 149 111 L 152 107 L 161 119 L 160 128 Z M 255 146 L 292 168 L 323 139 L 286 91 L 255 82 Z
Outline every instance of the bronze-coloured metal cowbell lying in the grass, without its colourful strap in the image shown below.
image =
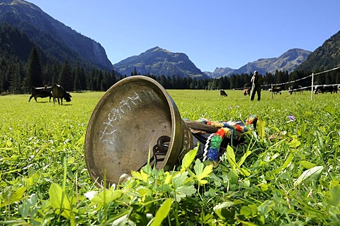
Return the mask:
M 85 138 L 86 167 L 96 186 L 104 181 L 111 186 L 148 160 L 157 169 L 174 168 L 182 151 L 193 148 L 192 140 L 162 85 L 146 76 L 131 76 L 106 91 L 92 112 Z

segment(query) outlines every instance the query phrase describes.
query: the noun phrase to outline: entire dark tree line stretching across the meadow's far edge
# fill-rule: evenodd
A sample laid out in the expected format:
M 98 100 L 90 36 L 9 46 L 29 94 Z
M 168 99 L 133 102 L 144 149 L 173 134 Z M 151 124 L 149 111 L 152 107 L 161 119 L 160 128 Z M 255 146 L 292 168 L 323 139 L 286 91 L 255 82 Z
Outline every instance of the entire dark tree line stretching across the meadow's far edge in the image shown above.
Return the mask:
M 309 76 L 310 71 L 276 71 L 275 73 L 266 73 L 262 75 L 263 85 L 287 83 L 299 78 Z M 316 84 L 339 84 L 339 70 L 324 73 L 315 76 L 314 85 Z M 139 75 L 136 70 L 132 71 L 130 76 Z M 241 75 L 232 74 L 232 76 L 222 76 L 221 78 L 181 78 L 179 76 L 154 76 L 146 74 L 161 83 L 166 89 L 191 89 L 191 90 L 220 90 L 220 89 L 238 89 L 250 86 L 252 73 L 242 73 Z M 0 55 L 0 93 L 29 93 L 30 89 L 41 87 L 43 85 L 52 85 L 52 83 L 61 84 L 65 90 L 81 91 L 96 90 L 106 91 L 111 85 L 125 78 L 126 76 L 116 75 L 115 71 L 105 71 L 102 69 L 85 69 L 79 63 L 70 64 L 68 61 L 62 63 L 47 62 L 42 65 L 40 54 L 36 47 L 30 52 L 27 62 L 23 62 L 18 57 L 11 54 Z M 283 85 L 284 89 L 292 84 Z M 295 82 L 293 85 L 302 85 L 307 87 L 311 85 L 311 79 L 303 79 Z M 265 88 L 265 87 L 264 87 Z

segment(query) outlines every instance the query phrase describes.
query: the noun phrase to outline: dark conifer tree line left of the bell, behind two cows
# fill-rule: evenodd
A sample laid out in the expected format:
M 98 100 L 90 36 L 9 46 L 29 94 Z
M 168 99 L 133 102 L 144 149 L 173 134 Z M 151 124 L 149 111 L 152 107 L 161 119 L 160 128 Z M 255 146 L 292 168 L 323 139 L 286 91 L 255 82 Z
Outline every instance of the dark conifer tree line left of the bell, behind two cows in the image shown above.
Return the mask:
M 114 71 L 85 69 L 68 61 L 42 65 L 40 54 L 33 47 L 27 62 L 8 54 L 0 55 L 0 93 L 30 93 L 33 86 L 61 84 L 65 90 L 108 90 L 116 81 Z

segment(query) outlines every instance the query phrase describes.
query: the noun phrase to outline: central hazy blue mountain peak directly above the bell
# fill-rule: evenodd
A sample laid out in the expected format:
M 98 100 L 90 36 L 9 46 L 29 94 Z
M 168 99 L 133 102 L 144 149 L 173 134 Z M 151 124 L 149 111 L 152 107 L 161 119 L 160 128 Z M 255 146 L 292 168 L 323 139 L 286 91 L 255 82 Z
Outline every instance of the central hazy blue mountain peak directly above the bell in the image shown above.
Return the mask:
M 126 76 L 134 71 L 138 74 L 147 73 L 154 76 L 180 76 L 181 78 L 208 78 L 186 54 L 169 52 L 166 49 L 154 47 L 138 56 L 128 57 L 113 64 L 113 69 Z

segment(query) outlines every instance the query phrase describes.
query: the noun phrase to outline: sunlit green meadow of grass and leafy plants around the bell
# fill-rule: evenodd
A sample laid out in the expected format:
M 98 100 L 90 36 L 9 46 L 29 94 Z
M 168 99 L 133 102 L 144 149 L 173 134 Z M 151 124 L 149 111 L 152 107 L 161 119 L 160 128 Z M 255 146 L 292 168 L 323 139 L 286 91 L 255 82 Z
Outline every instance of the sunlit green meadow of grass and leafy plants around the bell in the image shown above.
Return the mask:
M 194 149 L 171 172 L 147 165 L 101 189 L 84 138 L 103 93 L 71 93 L 64 105 L 0 96 L 0 225 L 339 225 L 339 93 L 263 90 L 250 102 L 242 90 L 168 92 L 183 119 L 255 114 L 258 129 L 220 162 L 195 160 Z

